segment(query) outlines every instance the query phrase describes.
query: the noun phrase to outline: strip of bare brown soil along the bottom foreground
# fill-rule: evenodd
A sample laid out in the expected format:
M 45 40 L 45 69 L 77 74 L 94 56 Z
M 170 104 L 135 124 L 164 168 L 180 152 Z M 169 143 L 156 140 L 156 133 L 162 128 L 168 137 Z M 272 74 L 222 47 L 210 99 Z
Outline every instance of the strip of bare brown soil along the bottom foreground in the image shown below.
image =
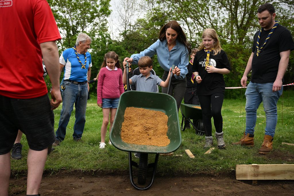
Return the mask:
M 129 175 L 59 172 L 44 174 L 39 193 L 43 195 L 294 195 L 292 180 L 235 180 L 234 175 L 156 176 L 153 185 L 136 190 Z M 135 183 L 136 183 L 136 179 Z M 147 178 L 147 182 L 150 178 Z M 11 178 L 9 195 L 25 195 L 26 177 Z

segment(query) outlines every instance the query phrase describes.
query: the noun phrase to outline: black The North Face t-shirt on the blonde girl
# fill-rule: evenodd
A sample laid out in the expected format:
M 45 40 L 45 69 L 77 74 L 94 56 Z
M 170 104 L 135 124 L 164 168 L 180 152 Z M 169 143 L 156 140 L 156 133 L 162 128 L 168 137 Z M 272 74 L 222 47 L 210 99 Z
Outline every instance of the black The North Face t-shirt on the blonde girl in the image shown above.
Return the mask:
M 220 53 L 213 55 L 211 52 L 209 55 L 209 65 L 218 69 L 226 68 L 231 70 L 230 62 L 225 51 L 221 50 Z M 193 72 L 198 72 L 202 81 L 197 86 L 198 95 L 211 95 L 214 93 L 225 93 L 225 81 L 223 74 L 208 73 L 205 69 L 206 52 L 203 50 L 196 53 L 193 62 Z

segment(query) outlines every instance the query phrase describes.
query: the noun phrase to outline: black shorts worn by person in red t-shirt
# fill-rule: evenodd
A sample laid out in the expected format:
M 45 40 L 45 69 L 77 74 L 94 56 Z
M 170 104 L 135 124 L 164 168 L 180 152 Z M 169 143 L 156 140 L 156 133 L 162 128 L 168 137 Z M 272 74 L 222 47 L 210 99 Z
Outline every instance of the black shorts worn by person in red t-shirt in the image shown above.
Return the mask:
M 47 94 L 33 99 L 0 95 L 0 155 L 10 152 L 18 129 L 32 150 L 44 150 L 55 141 L 54 113 Z

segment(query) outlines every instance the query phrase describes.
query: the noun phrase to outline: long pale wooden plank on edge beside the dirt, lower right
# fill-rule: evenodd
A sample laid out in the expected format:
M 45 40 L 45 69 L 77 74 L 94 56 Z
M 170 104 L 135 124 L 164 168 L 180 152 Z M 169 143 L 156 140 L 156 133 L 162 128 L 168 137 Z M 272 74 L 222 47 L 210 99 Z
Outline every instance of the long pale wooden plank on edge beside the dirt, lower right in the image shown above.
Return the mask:
M 236 165 L 237 180 L 294 180 L 294 164 Z

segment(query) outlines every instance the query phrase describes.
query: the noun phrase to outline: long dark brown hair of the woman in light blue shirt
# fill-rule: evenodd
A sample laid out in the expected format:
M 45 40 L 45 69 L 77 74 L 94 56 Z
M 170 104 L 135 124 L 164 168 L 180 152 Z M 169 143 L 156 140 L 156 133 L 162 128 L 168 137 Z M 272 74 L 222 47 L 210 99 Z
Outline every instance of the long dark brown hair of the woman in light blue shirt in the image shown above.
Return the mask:
M 182 27 L 178 24 L 177 21 L 169 21 L 166 23 L 159 31 L 158 39 L 163 41 L 166 39 L 166 29 L 171 28 L 178 33 L 177 40 L 180 41 L 188 49 L 189 54 L 191 53 L 191 44 L 187 41 L 186 35 Z

